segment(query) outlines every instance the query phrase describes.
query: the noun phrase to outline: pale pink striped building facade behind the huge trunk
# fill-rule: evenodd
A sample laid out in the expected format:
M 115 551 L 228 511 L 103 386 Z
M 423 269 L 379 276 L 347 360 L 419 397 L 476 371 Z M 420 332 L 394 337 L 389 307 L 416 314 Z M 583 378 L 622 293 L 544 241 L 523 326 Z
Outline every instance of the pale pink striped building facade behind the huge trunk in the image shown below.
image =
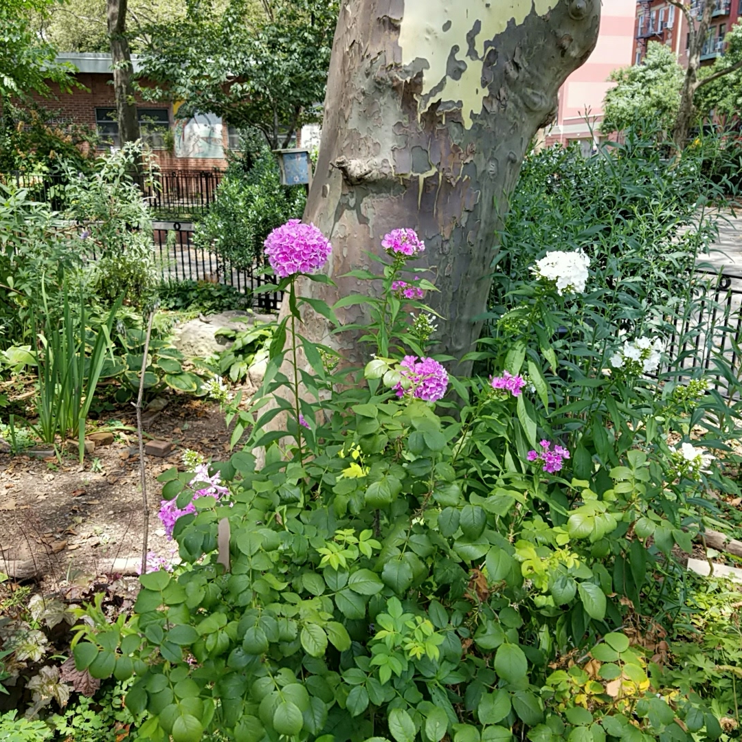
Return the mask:
M 578 141 L 589 152 L 600 139 L 603 99 L 613 85 L 608 75 L 634 62 L 636 22 L 637 0 L 603 0 L 597 46 L 562 85 L 557 121 L 544 133 L 546 145 Z

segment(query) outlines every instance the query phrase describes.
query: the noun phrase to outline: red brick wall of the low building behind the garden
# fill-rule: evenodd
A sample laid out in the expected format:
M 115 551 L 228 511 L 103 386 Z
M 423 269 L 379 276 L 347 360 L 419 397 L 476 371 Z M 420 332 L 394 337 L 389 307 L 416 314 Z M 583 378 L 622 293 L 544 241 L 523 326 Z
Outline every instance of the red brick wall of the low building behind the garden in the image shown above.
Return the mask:
M 59 86 L 50 84 L 53 96 L 44 98 L 33 93 L 36 102 L 53 111 L 59 111 L 61 116 L 67 116 L 76 124 L 82 124 L 95 131 L 95 109 L 113 108 L 116 105 L 112 74 L 78 73 L 76 79 L 85 86 L 84 90 L 76 89 L 72 93 L 60 93 Z M 137 104 L 146 108 L 167 108 L 170 112 L 170 122 L 173 124 L 172 107 L 169 103 L 156 103 L 142 100 L 137 95 Z M 228 137 L 226 125 L 222 127 L 224 149 L 227 149 Z M 103 151 L 103 150 L 101 150 Z M 163 170 L 224 170 L 225 159 L 206 159 L 200 157 L 175 157 L 171 152 L 154 151 L 155 158 Z

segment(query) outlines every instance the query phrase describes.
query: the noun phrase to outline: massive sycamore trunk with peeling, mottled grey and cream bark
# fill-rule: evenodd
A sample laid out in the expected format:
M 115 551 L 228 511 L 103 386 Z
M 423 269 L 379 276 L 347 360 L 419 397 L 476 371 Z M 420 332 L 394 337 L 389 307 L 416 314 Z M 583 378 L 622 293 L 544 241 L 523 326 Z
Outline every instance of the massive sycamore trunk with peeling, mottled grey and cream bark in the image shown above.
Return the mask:
M 416 229 L 426 245 L 416 264 L 440 289 L 427 297 L 445 318 L 437 350 L 473 349 L 523 157 L 599 24 L 600 0 L 344 0 L 304 213 L 332 241 L 338 289 L 305 281 L 303 295 L 332 303 L 367 291 L 340 277 L 373 268 L 364 252 L 381 253 L 391 229 Z M 364 306 L 338 315 L 363 322 Z M 328 339 L 321 318 L 303 332 Z M 363 360 L 347 335 L 332 344 Z

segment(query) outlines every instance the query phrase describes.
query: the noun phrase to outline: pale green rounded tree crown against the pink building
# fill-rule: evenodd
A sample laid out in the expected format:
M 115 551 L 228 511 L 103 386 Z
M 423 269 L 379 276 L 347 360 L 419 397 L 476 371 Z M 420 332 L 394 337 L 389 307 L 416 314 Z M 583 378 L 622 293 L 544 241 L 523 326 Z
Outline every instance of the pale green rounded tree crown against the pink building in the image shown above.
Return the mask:
M 669 46 L 649 42 L 642 64 L 611 72 L 617 85 L 605 93 L 604 134 L 633 128 L 637 120 L 655 122 L 663 134 L 672 129 L 680 105 L 683 68 Z

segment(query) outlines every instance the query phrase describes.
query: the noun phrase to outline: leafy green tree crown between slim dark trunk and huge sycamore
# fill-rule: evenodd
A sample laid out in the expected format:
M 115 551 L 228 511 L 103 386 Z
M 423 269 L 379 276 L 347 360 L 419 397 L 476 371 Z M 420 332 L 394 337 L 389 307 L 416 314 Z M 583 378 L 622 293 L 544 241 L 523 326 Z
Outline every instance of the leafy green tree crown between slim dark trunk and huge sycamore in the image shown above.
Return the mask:
M 229 0 L 223 12 L 191 2 L 185 19 L 147 29 L 142 77 L 157 87 L 142 94 L 184 101 L 179 115 L 254 126 L 285 147 L 320 118 L 337 15 L 334 0 Z

